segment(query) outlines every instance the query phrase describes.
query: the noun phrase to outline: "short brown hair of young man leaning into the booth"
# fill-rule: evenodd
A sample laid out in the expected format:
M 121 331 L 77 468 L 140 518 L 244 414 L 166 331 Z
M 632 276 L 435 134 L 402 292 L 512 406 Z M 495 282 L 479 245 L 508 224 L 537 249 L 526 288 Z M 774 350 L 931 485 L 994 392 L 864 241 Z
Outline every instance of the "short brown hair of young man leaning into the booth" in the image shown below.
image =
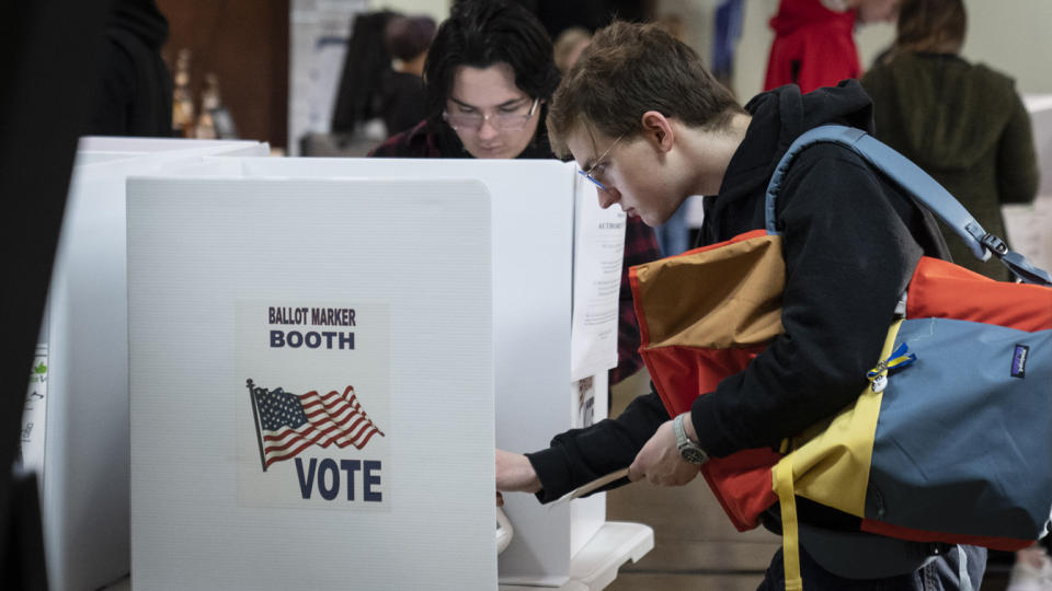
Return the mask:
M 654 24 L 615 22 L 595 34 L 556 89 L 548 111 L 552 150 L 570 155 L 565 137 L 576 125 L 609 137 L 637 134 L 648 111 L 706 129 L 745 113 L 686 44 Z

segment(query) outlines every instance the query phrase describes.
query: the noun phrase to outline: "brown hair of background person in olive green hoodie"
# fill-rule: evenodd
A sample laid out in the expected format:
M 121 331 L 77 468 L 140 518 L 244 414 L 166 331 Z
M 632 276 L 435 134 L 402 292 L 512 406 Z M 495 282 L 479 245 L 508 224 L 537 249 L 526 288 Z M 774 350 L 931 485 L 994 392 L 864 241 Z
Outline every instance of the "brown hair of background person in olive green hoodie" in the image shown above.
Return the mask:
M 899 7 L 895 51 L 956 54 L 964 44 L 967 28 L 961 0 L 904 0 Z

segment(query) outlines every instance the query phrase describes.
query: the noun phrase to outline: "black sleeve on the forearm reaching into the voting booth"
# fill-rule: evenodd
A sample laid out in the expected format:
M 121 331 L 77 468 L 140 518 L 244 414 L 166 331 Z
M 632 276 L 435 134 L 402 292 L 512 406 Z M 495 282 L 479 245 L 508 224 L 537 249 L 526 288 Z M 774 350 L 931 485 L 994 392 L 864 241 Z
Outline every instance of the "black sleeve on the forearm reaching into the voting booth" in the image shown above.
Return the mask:
M 544 487 L 537 499 L 553 501 L 581 485 L 628 467 L 666 420 L 668 413 L 658 394 L 651 391 L 632 401 L 615 419 L 604 419 L 591 427 L 556 436 L 550 448 L 526 454 Z M 621 478 L 601 490 L 625 484 L 628 479 Z

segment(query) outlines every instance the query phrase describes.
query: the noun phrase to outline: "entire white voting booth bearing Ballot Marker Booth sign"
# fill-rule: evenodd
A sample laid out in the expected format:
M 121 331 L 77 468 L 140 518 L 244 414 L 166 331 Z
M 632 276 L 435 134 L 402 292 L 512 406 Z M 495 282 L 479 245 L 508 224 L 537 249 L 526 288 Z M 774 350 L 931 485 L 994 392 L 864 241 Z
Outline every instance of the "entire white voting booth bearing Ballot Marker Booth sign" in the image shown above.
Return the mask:
M 606 416 L 622 241 L 624 215 L 556 161 L 215 158 L 132 178 L 133 587 L 607 584 L 650 529 L 605 523 L 602 494 L 506 495 L 498 560 L 492 450 Z M 330 310 L 358 322 L 319 326 Z M 325 336 L 351 332 L 353 350 Z M 348 385 L 382 434 L 267 463 L 260 408 Z

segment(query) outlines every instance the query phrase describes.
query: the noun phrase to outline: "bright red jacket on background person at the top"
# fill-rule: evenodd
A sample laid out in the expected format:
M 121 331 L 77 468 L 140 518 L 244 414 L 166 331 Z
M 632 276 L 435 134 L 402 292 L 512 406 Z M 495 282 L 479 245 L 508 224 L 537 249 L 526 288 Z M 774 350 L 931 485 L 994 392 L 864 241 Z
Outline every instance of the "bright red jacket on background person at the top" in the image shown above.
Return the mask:
M 764 90 L 797 84 L 807 93 L 860 77 L 856 24 L 893 22 L 899 1 L 781 0 L 770 19 L 775 40 Z

